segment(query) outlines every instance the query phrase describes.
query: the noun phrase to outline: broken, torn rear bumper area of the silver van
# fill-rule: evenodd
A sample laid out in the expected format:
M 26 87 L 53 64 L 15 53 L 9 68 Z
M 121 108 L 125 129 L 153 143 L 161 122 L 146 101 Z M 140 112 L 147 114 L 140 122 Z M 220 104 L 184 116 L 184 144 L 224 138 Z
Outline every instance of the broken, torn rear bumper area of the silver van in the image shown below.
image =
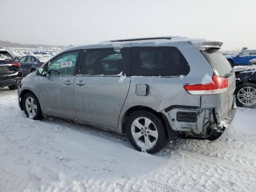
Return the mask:
M 235 101 L 235 98 L 234 100 Z M 180 107 L 163 110 L 162 114 L 168 120 L 172 131 L 179 133 L 181 138 L 217 140 L 225 135 L 236 113 L 233 102 L 228 115 L 220 120 L 217 108 Z

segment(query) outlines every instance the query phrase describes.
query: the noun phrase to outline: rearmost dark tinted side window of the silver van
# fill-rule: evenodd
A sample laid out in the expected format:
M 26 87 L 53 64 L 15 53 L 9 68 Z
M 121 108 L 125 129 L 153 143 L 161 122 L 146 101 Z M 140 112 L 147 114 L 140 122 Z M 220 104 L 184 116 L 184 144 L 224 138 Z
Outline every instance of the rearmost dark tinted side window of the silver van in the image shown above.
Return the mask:
M 188 62 L 176 47 L 132 47 L 132 75 L 187 75 L 189 71 Z

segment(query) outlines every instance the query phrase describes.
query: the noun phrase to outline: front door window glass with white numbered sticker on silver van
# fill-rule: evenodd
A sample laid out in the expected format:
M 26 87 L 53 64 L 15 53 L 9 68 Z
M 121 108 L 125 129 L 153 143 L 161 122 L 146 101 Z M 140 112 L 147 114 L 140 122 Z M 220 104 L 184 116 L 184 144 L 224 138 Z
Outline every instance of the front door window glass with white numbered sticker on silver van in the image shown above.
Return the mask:
M 50 61 L 47 69 L 48 76 L 73 75 L 79 52 L 64 53 Z

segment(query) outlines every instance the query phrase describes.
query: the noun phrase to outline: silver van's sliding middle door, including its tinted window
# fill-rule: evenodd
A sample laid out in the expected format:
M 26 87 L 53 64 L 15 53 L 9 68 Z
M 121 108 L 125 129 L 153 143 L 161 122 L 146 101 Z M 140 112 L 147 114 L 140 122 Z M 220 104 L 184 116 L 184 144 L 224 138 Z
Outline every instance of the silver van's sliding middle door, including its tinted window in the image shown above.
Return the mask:
M 130 48 L 86 50 L 74 85 L 78 120 L 116 128 L 130 87 Z

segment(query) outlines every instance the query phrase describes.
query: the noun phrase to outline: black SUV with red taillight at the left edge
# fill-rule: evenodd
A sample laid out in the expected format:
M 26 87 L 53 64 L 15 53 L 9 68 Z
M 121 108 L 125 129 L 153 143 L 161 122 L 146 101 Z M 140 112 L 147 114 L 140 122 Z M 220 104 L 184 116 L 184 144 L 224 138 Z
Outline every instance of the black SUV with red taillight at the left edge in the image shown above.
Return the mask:
M 21 66 L 8 51 L 0 51 L 0 87 L 14 90 L 22 80 Z

